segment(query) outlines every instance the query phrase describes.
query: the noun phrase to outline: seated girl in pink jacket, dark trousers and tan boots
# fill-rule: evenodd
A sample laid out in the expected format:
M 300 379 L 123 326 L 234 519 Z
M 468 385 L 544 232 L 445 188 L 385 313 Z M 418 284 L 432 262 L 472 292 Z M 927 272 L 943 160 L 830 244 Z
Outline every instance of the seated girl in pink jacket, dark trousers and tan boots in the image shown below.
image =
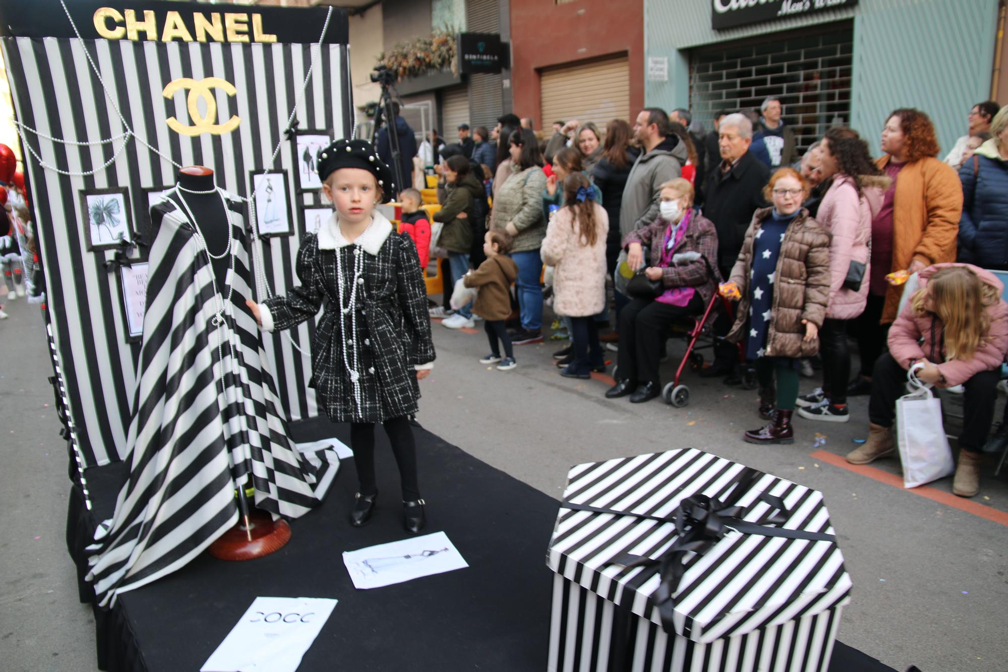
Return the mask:
M 1008 304 L 994 273 L 966 263 L 938 263 L 919 273 L 920 289 L 889 329 L 889 352 L 876 360 L 868 406 L 868 441 L 847 455 L 868 464 L 895 452 L 892 420 L 905 394 L 907 370 L 938 387 L 964 385 L 963 431 L 953 492 L 980 490 L 980 450 L 994 419 L 1001 362 L 1008 351 Z

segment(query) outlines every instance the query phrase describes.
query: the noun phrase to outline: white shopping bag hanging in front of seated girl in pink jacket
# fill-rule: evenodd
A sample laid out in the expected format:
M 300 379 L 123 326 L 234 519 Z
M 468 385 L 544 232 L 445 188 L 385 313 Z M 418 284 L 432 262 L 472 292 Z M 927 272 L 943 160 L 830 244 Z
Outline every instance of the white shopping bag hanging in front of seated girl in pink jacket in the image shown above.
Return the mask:
M 907 374 L 913 391 L 896 400 L 896 434 L 904 487 L 923 485 L 956 470 L 941 424 L 941 400 L 931 394 L 930 385 L 917 378 L 916 371 L 921 367 L 922 364 L 915 364 Z

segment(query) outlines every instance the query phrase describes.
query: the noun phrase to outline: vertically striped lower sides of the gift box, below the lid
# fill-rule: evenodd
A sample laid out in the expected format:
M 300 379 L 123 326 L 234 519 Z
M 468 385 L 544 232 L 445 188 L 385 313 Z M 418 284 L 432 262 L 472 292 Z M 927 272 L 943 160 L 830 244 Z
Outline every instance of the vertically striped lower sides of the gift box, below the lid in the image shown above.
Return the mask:
M 698 643 L 621 612 L 611 601 L 553 576 L 549 672 L 827 672 L 842 606 L 744 635 Z M 621 620 L 627 632 L 620 639 Z M 622 624 L 620 624 L 622 625 Z

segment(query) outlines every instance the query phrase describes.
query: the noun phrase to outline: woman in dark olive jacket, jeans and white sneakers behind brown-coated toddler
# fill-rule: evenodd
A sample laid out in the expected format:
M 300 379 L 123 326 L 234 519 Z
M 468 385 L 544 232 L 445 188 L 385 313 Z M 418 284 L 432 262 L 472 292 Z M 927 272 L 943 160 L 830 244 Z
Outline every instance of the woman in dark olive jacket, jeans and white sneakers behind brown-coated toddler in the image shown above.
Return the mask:
M 434 213 L 435 222 L 444 222 L 437 245 L 448 250 L 448 258 L 452 267 L 452 281 L 449 287 L 454 288 L 459 278 L 469 272 L 469 252 L 473 247 L 473 227 L 470 224 L 476 199 L 483 196 L 483 183 L 476 179 L 469 169 L 469 159 L 462 154 L 456 154 L 447 161 L 445 180 L 448 182 L 448 196 L 442 209 Z M 473 306 L 463 306 L 459 312 L 442 322 L 449 329 L 472 329 Z

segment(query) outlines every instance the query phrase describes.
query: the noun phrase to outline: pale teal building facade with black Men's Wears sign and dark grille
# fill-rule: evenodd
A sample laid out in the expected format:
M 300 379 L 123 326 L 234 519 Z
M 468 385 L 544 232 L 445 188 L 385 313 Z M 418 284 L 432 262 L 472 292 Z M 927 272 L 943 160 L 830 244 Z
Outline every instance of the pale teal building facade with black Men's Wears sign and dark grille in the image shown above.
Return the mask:
M 710 129 L 779 96 L 799 146 L 843 123 L 873 149 L 890 111 L 916 107 L 948 149 L 991 96 L 998 14 L 999 0 L 646 0 L 645 100 Z

